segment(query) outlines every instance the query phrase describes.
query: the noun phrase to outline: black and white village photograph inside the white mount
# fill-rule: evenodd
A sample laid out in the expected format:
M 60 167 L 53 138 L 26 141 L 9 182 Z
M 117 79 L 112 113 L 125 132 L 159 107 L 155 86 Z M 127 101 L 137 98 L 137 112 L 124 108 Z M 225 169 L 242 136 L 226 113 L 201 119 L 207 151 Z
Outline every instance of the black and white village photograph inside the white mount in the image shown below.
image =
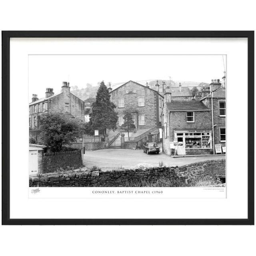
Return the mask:
M 29 186 L 225 188 L 227 68 L 223 54 L 29 55 Z

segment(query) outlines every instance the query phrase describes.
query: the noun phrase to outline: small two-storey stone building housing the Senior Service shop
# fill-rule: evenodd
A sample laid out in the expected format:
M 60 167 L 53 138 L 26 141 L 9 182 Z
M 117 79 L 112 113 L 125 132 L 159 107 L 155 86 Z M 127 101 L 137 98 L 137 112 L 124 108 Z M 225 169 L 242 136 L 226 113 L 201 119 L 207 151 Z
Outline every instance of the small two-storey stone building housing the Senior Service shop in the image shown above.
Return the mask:
M 164 95 L 163 152 L 168 155 L 212 154 L 212 116 L 202 101 L 175 101 Z M 176 149 L 176 152 L 175 152 Z

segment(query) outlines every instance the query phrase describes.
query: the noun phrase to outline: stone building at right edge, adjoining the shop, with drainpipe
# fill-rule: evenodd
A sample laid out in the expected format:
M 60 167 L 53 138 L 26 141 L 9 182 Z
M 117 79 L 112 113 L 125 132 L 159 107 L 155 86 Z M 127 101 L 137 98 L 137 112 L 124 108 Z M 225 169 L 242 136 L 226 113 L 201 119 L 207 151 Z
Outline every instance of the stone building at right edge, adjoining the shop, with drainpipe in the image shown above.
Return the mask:
M 226 89 L 220 87 L 200 101 L 213 111 L 214 145 L 226 147 Z

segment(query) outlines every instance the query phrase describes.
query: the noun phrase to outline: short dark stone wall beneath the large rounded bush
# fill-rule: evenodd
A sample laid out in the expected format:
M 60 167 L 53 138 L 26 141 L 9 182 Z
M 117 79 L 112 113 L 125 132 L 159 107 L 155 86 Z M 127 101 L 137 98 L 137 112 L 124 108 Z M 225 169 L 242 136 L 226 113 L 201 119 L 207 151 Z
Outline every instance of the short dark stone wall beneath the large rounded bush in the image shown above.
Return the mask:
M 60 168 L 79 168 L 82 165 L 81 150 L 43 153 L 42 172 L 55 172 Z

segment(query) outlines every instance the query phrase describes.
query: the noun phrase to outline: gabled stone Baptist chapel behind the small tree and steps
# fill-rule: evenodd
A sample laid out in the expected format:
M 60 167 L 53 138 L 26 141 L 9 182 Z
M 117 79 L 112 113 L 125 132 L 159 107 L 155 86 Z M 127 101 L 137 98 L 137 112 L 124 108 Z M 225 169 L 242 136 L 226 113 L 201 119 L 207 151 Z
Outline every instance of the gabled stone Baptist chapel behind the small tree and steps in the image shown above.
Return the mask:
M 122 126 L 126 111 L 132 114 L 136 129 L 161 126 L 160 114 L 164 97 L 159 93 L 158 83 L 156 90 L 153 90 L 130 80 L 115 89 L 109 85 L 108 90 L 110 100 L 116 105 L 118 112 L 118 127 Z

